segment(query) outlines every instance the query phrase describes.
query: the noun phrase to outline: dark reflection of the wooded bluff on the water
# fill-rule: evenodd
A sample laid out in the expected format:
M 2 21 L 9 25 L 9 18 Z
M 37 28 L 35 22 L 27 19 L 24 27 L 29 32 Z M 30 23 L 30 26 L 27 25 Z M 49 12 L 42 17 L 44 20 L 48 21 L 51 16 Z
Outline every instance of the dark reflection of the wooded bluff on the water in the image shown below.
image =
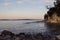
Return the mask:
M 47 27 L 47 32 L 49 35 L 59 35 L 60 34 L 60 23 L 45 23 Z

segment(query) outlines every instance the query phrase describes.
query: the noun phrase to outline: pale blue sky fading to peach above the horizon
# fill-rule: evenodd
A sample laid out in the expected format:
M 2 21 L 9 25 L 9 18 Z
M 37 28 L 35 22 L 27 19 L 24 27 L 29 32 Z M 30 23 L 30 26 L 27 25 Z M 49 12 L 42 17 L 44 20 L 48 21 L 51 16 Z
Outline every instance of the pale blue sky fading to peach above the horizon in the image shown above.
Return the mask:
M 43 19 L 54 0 L 0 0 L 0 19 Z

